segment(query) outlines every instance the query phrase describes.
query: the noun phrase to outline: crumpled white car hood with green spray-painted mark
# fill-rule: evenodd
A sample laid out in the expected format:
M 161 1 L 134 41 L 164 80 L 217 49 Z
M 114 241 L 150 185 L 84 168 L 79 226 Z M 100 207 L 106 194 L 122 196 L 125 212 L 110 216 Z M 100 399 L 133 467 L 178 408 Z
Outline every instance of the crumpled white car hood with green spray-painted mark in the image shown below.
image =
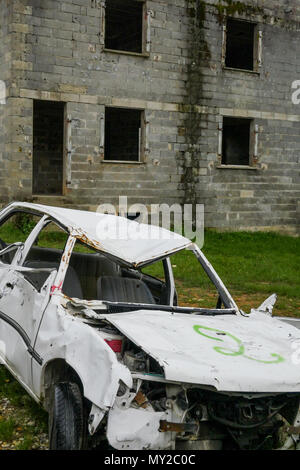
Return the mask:
M 265 313 L 101 317 L 158 361 L 167 380 L 224 392 L 300 392 L 300 331 Z

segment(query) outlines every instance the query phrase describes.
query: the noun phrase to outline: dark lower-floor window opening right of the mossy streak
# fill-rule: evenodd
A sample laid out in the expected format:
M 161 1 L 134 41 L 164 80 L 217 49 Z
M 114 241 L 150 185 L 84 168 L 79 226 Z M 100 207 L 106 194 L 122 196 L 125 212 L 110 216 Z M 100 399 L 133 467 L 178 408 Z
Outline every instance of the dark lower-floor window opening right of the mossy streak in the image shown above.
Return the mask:
M 223 165 L 250 164 L 251 119 L 223 118 Z

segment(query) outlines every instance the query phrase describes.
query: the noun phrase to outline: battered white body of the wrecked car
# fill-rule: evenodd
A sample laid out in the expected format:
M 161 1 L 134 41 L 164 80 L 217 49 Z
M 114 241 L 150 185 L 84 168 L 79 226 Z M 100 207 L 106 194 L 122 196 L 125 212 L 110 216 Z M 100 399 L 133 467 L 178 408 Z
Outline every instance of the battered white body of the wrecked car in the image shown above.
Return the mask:
M 221 431 L 224 423 L 231 426 L 231 435 L 236 426 L 242 429 L 240 443 L 248 445 L 247 423 L 253 429 L 268 420 L 268 435 L 277 426 L 275 413 L 289 400 L 300 403 L 300 371 L 293 360 L 300 331 L 297 322 L 272 317 L 275 295 L 246 315 L 202 251 L 184 237 L 158 227 L 149 232 L 149 226 L 123 217 L 19 202 L 2 210 L 0 222 L 17 210 L 41 219 L 18 244 L 11 263 L 0 260 L 0 362 L 37 401 L 45 405 L 56 383 L 48 371 L 63 362 L 91 404 L 90 434 L 104 429 L 110 445 L 120 450 L 174 449 L 178 434 L 181 449 L 220 448 L 214 434 L 200 439 L 199 429 L 210 420 L 220 422 Z M 60 262 L 54 269 L 50 262 L 28 268 L 27 254 L 49 221 L 67 234 Z M 121 276 L 125 272 L 140 282 L 142 266 L 163 260 L 166 303 L 67 297 L 63 285 L 77 241 L 117 263 Z M 168 257 L 185 249 L 192 250 L 215 287 L 215 308 L 174 305 Z M 49 275 L 41 288 L 26 279 L 26 272 L 45 270 Z M 110 337 L 120 350 L 113 350 Z M 299 426 L 299 403 L 296 408 L 290 403 L 290 423 Z M 286 446 L 290 439 L 300 446 L 299 435 L 292 434 Z

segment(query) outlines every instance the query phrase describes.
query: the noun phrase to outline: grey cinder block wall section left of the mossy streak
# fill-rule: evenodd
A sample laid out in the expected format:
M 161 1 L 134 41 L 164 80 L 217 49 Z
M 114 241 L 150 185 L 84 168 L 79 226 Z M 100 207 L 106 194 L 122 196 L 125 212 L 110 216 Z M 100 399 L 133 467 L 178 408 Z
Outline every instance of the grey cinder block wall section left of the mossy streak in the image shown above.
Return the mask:
M 63 197 L 34 201 L 95 208 L 118 202 L 181 201 L 176 154 L 184 102 L 187 49 L 186 4 L 149 1 L 153 10 L 149 58 L 103 52 L 99 43 L 100 9 L 91 0 L 19 0 L 13 2 L 17 24 L 13 54 L 14 100 L 30 106 L 33 99 L 66 103 L 71 124 L 71 184 Z M 17 60 L 18 59 L 18 60 Z M 105 106 L 145 110 L 150 152 L 141 164 L 103 163 L 100 118 Z M 21 115 L 24 145 L 14 157 L 28 167 L 11 184 L 17 196 L 32 198 L 32 114 Z M 13 134 L 15 134 L 15 128 Z

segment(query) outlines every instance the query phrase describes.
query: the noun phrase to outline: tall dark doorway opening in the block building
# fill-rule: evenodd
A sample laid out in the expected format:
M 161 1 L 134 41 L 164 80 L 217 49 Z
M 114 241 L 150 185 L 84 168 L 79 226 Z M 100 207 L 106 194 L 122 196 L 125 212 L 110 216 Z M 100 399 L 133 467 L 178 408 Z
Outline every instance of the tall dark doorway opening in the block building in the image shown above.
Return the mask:
M 33 194 L 62 194 L 64 103 L 34 101 Z

